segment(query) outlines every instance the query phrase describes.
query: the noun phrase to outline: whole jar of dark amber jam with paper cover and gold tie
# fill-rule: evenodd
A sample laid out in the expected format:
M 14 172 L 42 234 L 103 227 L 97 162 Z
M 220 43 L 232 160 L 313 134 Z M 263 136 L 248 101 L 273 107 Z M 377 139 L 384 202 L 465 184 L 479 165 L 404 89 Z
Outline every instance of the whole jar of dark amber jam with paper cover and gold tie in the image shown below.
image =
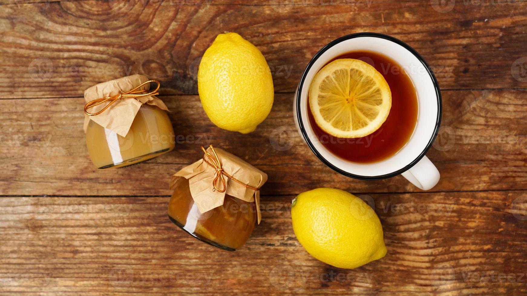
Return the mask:
M 203 159 L 172 177 L 168 215 L 194 238 L 235 251 L 260 222 L 259 188 L 267 175 L 224 150 L 207 151 Z M 218 175 L 218 169 L 225 174 Z

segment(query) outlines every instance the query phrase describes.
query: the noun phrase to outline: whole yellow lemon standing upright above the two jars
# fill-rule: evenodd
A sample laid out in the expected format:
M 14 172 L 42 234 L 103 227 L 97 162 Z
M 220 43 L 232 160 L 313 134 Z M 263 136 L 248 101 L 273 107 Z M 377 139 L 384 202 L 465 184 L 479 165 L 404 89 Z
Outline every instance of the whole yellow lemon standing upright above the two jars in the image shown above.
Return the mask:
M 248 134 L 271 111 L 271 72 L 264 55 L 236 33 L 222 33 L 198 68 L 201 104 L 213 124 Z

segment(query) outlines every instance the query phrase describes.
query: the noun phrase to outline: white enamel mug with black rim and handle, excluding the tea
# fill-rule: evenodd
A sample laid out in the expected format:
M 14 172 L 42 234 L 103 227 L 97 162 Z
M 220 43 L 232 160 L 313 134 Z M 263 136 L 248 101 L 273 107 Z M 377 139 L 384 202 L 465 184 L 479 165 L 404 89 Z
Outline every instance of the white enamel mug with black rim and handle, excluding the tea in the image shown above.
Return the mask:
M 315 74 L 336 56 L 366 50 L 383 54 L 397 62 L 412 80 L 417 93 L 417 123 L 411 138 L 395 155 L 368 164 L 341 159 L 322 144 L 311 128 L 307 114 L 309 85 Z M 311 59 L 300 78 L 293 112 L 296 126 L 315 155 L 342 175 L 360 180 L 380 180 L 399 174 L 418 188 L 428 190 L 439 181 L 440 174 L 425 156 L 441 124 L 441 93 L 432 69 L 412 47 L 394 37 L 378 33 L 357 33 L 340 37 Z

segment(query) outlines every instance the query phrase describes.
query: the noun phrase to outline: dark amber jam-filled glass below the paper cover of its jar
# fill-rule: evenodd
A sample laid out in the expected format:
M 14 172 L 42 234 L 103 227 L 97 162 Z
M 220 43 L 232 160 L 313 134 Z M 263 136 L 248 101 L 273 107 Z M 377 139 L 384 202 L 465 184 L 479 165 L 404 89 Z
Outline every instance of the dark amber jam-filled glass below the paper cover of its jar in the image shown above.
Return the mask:
M 174 189 L 168 206 L 170 220 L 191 236 L 228 251 L 245 244 L 257 219 L 255 202 L 225 195 L 223 205 L 200 213 L 192 199 L 189 180 Z

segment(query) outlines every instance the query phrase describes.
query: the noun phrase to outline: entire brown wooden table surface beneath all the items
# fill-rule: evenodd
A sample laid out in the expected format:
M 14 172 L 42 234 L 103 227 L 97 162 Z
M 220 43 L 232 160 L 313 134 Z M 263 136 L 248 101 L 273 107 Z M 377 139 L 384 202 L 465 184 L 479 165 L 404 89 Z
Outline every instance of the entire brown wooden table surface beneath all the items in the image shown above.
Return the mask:
M 519 0 L 0 0 L 0 293 L 527 294 L 526 30 Z M 273 73 L 274 106 L 249 135 L 214 126 L 197 95 L 199 58 L 223 31 L 255 44 Z M 295 129 L 309 59 L 356 32 L 403 40 L 436 73 L 430 191 L 341 176 Z M 161 81 L 181 137 L 147 163 L 96 170 L 83 92 L 128 74 Z M 269 175 L 262 223 L 236 252 L 167 217 L 170 176 L 209 143 Z M 309 256 L 290 205 L 317 187 L 370 200 L 385 258 L 345 270 Z

